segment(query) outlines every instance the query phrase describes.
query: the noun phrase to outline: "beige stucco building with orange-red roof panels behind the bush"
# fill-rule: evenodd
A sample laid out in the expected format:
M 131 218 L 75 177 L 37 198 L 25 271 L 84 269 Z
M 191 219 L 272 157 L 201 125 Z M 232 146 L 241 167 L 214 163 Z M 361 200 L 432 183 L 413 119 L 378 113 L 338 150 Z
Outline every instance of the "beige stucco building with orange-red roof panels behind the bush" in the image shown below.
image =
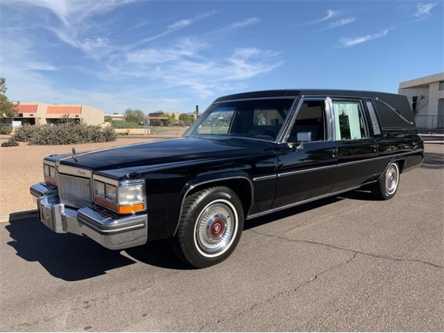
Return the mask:
M 84 104 L 68 105 L 23 102 L 17 105 L 17 113 L 17 117 L 9 120 L 22 121 L 22 123 L 31 123 L 35 125 L 45 125 L 46 123 L 54 123 L 57 119 L 68 115 L 69 118 L 79 119 L 80 122 L 88 125 L 100 125 L 103 123 L 103 111 Z

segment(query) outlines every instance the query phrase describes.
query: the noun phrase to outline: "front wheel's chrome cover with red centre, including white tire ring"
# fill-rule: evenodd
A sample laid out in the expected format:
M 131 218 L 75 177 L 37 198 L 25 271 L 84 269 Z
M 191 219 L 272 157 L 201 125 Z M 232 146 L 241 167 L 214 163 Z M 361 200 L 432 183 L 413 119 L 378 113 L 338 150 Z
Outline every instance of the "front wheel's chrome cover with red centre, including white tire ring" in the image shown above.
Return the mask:
M 237 232 L 237 212 L 228 200 L 214 200 L 200 212 L 194 240 L 200 254 L 216 257 L 224 253 Z

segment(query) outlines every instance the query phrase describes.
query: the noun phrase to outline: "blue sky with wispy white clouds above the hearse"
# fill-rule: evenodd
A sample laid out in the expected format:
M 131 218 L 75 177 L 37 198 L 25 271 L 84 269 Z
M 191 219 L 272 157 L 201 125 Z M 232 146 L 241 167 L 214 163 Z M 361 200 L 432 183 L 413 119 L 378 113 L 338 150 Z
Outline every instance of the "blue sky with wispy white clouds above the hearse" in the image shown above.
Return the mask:
M 17 101 L 191 112 L 259 89 L 397 92 L 444 70 L 441 1 L 4 0 Z

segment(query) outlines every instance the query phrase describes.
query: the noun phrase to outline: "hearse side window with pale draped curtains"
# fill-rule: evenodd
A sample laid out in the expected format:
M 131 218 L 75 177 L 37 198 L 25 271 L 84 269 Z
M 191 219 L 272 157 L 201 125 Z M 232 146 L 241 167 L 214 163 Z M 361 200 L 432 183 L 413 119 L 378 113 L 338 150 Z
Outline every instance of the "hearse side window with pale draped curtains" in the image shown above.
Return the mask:
M 336 141 L 368 137 L 359 101 L 333 101 Z

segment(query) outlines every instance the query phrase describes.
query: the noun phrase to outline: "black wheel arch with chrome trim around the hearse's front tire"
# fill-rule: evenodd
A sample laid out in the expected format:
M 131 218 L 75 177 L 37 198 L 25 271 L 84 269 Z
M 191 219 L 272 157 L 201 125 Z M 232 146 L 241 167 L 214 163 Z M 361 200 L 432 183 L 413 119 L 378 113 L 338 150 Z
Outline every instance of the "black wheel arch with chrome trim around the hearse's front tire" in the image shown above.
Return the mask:
M 244 207 L 244 215 L 248 216 L 254 200 L 254 187 L 250 176 L 247 173 L 223 173 L 211 176 L 203 176 L 187 182 L 187 184 L 180 191 L 180 212 L 174 235 L 178 230 L 180 223 L 180 216 L 182 216 L 182 208 L 185 198 L 190 194 L 214 186 L 225 186 L 234 191 L 241 200 Z

